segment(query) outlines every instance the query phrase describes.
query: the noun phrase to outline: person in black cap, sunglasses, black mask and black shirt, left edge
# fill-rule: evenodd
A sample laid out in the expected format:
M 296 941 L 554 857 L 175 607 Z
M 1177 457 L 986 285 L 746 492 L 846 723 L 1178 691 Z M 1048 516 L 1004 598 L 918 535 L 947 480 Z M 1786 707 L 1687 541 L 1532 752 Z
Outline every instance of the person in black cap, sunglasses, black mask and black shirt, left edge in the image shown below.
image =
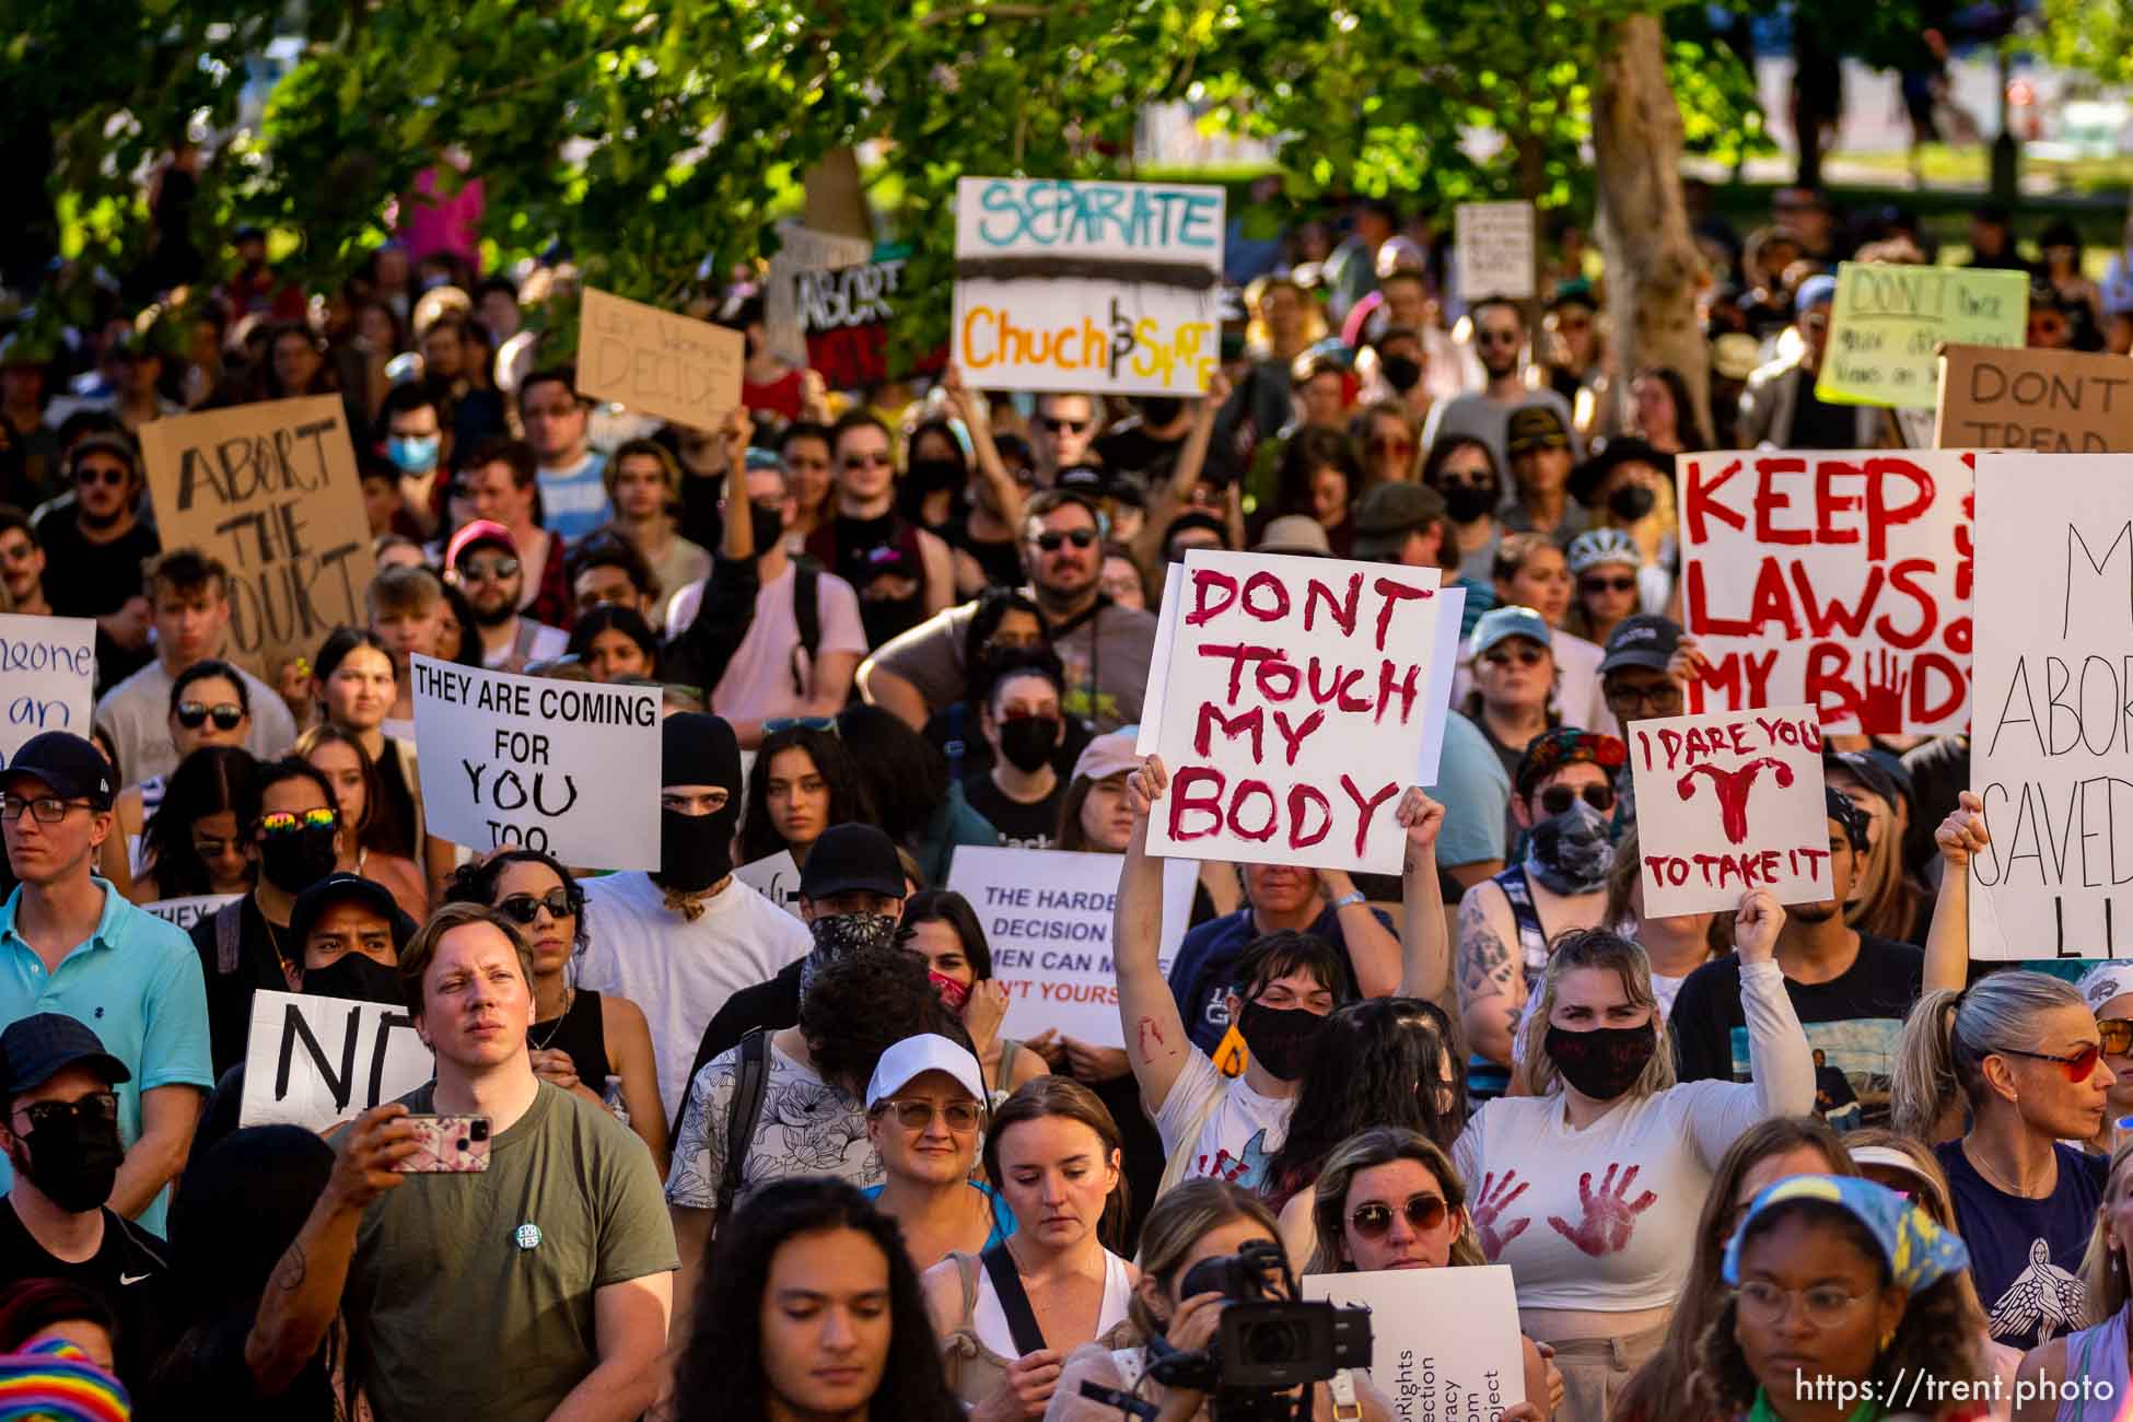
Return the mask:
M 113 1211 L 117 1087 L 126 1064 L 64 1013 L 32 1013 L 0 1032 L 0 1153 L 15 1170 L 0 1205 L 0 1286 L 64 1279 L 117 1318 L 117 1375 L 139 1388 L 166 1341 L 169 1251 Z

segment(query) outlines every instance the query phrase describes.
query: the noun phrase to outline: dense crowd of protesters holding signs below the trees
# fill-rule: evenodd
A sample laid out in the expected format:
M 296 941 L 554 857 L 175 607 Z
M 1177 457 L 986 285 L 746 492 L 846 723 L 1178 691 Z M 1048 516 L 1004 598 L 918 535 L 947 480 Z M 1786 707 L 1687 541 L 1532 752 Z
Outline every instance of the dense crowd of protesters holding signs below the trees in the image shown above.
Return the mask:
M 2124 1416 L 2124 874 L 1994 898 L 2112 791 L 1971 746 L 2020 721 L 1988 588 L 2067 554 L 1994 565 L 1988 458 L 1837 337 L 1984 273 L 1990 356 L 2122 379 L 2133 292 L 1787 190 L 1700 220 L 1706 369 L 1632 369 L 1529 209 L 1508 256 L 1220 211 L 1150 296 L 1207 313 L 1180 379 L 1066 326 L 1028 377 L 1026 254 L 853 379 L 776 266 L 648 311 L 444 226 L 335 290 L 237 230 L 6 335 L 0 1371 L 62 1418 Z M 2107 761 L 2129 693 L 2065 665 L 2031 721 Z M 1237 1381 L 1280 1300 L 1372 1303 L 1367 1371 Z

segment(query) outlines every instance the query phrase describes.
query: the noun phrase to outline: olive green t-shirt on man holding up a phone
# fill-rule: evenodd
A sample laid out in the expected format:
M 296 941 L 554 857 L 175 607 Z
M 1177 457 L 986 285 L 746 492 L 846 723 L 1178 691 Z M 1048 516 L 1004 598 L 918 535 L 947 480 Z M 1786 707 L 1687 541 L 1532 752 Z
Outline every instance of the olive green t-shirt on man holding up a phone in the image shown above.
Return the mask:
M 401 1102 L 435 1111 L 429 1083 Z M 546 1081 L 480 1175 L 410 1175 L 365 1213 L 343 1309 L 380 1422 L 538 1422 L 599 1362 L 593 1290 L 676 1269 L 644 1143 Z

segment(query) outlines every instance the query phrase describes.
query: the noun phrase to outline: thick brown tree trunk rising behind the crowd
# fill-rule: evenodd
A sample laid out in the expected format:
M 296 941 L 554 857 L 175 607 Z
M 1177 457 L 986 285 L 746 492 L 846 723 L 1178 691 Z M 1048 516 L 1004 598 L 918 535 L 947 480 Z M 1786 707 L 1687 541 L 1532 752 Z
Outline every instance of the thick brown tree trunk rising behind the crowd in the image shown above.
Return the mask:
M 1593 83 L 1593 166 L 1615 343 L 1615 399 L 1630 375 L 1666 365 L 1687 382 L 1698 441 L 1711 437 L 1711 356 L 1696 324 L 1702 254 L 1681 198 L 1681 109 L 1666 83 L 1655 15 L 1630 15 L 1600 34 Z

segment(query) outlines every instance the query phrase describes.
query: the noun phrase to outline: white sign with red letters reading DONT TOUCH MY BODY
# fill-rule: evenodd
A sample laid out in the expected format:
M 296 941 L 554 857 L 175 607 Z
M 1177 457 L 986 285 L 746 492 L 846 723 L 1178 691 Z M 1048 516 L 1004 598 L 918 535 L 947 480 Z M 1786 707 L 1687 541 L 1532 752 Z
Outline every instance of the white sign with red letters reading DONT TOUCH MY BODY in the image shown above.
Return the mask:
M 1427 742 L 1438 569 L 1194 548 L 1148 851 L 1397 874 Z

